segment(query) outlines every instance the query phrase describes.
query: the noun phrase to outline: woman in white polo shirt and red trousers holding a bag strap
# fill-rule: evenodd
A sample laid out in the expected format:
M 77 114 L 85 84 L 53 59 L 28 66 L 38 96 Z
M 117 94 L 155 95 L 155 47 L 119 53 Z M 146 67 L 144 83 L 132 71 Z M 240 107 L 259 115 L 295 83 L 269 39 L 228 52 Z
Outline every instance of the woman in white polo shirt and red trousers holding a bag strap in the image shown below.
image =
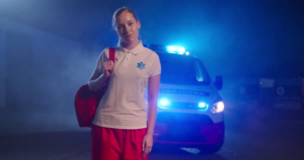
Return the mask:
M 91 128 L 92 159 L 148 159 L 153 145 L 161 66 L 158 55 L 138 40 L 140 22 L 122 7 L 112 18 L 119 36 L 115 63 L 105 48 L 88 81 L 91 91 L 109 78 Z M 115 65 L 114 65 L 115 64 Z M 147 86 L 147 109 L 144 91 Z

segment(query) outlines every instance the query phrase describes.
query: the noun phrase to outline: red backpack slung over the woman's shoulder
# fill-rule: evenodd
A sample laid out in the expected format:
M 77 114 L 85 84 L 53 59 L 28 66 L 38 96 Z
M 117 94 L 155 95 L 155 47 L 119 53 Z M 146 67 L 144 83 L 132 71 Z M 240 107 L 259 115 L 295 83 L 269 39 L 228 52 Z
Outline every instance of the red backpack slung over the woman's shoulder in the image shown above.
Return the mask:
M 109 60 L 115 62 L 115 48 L 109 48 Z M 108 79 L 107 79 L 108 81 Z M 107 85 L 107 83 L 105 84 Z M 98 104 L 106 90 L 106 86 L 98 92 L 91 92 L 88 84 L 82 85 L 76 92 L 74 106 L 78 125 L 91 127 Z

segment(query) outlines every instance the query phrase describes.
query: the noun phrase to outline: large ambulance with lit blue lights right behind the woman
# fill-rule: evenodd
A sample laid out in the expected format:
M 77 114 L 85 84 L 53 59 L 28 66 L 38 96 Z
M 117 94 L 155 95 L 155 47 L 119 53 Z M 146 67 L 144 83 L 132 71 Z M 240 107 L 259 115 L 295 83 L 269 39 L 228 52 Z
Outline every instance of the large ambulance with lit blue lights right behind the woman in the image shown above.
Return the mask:
M 160 59 L 161 76 L 153 140 L 156 144 L 216 152 L 224 141 L 224 102 L 204 64 L 182 46 L 144 44 Z

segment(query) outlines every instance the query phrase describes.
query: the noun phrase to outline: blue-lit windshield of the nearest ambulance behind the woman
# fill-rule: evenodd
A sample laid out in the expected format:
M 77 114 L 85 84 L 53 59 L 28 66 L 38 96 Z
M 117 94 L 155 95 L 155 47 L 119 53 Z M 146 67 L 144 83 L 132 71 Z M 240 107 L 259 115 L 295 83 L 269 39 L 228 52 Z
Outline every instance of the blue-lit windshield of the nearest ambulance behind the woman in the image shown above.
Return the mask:
M 158 53 L 161 64 L 161 83 L 179 85 L 207 85 L 210 78 L 202 63 L 192 57 Z

